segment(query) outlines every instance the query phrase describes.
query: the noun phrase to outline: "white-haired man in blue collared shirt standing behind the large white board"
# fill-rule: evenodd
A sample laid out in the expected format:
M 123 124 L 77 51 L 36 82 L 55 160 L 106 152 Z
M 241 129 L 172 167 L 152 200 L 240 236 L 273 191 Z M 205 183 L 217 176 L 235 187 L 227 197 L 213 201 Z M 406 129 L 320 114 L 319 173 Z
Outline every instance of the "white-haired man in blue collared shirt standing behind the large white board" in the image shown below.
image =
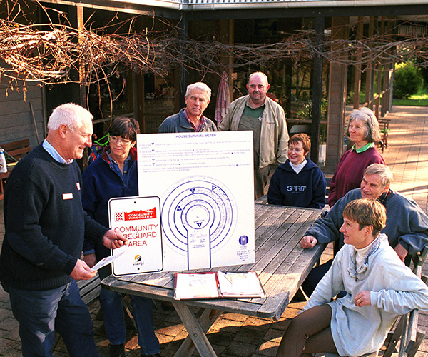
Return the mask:
M 205 116 L 211 99 L 211 89 L 205 83 L 189 84 L 185 91 L 185 108 L 168 116 L 159 126 L 159 133 L 199 133 L 200 131 L 217 131 L 214 122 Z

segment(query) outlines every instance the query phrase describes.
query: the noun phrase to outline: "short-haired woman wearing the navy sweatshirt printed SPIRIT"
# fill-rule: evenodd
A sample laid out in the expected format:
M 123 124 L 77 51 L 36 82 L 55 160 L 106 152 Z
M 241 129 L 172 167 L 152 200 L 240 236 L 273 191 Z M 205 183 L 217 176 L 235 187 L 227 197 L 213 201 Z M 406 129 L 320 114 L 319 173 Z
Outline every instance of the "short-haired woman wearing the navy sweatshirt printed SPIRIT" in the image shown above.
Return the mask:
M 325 177 L 320 168 L 307 158 L 310 139 L 295 134 L 288 142 L 288 159 L 280 164 L 270 180 L 269 204 L 307 208 L 324 208 Z

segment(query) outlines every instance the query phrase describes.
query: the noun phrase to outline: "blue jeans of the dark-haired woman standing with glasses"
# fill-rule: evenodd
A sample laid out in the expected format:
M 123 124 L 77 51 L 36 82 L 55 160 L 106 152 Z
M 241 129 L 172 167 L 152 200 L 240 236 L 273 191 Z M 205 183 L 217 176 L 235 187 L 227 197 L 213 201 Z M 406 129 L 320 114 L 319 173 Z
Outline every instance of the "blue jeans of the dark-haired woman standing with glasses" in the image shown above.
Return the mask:
M 122 307 L 122 295 L 101 288 L 100 303 L 103 309 L 104 328 L 108 341 L 118 345 L 126 341 L 126 324 Z M 141 354 L 159 353 L 159 341 L 153 327 L 153 306 L 150 298 L 131 295 L 134 320 L 138 328 L 138 344 Z

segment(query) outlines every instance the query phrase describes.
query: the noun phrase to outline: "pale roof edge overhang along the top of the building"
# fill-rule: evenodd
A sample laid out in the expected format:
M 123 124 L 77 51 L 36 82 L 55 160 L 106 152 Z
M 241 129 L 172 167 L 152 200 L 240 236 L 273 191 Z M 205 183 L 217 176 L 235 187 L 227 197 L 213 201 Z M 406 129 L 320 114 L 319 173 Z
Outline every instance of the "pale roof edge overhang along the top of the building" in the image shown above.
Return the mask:
M 263 19 L 314 16 L 416 16 L 426 0 L 41 0 L 173 19 Z

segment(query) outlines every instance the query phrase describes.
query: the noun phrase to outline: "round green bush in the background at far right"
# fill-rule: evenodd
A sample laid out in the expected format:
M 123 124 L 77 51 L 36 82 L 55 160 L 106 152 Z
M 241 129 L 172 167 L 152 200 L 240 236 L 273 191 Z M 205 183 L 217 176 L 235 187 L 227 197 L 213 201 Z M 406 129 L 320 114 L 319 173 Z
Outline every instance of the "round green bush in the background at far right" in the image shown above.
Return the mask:
M 394 73 L 394 98 L 407 99 L 416 94 L 424 80 L 419 69 L 412 64 L 396 64 Z

